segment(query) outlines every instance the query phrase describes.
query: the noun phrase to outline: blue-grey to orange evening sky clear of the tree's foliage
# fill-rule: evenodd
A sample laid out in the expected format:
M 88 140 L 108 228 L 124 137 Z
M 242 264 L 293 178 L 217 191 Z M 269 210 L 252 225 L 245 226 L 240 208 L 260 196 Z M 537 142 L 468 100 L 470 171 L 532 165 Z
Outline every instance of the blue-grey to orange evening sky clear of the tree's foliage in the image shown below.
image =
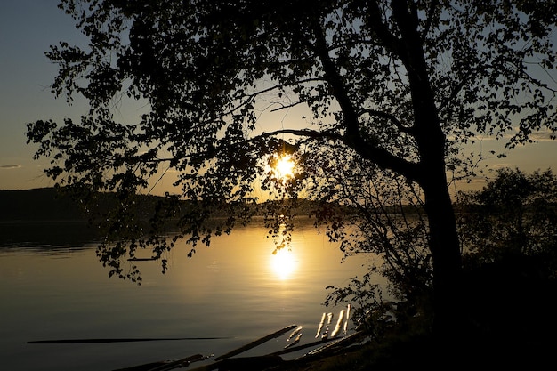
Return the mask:
M 52 187 L 43 168 L 48 160 L 33 160 L 35 147 L 26 144 L 26 124 L 39 119 L 76 119 L 85 104 L 69 107 L 55 99 L 49 86 L 57 68 L 44 56 L 60 41 L 84 44 L 74 20 L 57 8 L 59 0 L 0 1 L 0 190 Z M 125 108 L 123 108 L 125 109 Z M 501 149 L 500 142 L 484 138 L 474 150 Z M 551 168 L 557 172 L 557 141 L 542 139 L 513 149 L 504 158 L 481 163 L 490 169 L 518 167 L 525 173 Z M 472 181 L 480 187 L 481 180 Z

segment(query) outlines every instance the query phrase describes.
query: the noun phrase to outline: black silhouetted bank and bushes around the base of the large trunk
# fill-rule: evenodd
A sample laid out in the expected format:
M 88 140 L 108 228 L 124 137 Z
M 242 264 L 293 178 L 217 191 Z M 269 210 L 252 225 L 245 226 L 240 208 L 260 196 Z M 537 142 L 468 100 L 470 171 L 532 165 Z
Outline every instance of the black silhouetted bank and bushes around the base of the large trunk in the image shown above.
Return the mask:
M 288 369 L 526 367 L 553 363 L 557 340 L 557 179 L 551 171 L 503 169 L 456 205 L 463 248 L 460 335 L 434 338 L 428 300 L 375 322 L 375 340 Z M 408 304 L 408 305 L 404 305 Z

